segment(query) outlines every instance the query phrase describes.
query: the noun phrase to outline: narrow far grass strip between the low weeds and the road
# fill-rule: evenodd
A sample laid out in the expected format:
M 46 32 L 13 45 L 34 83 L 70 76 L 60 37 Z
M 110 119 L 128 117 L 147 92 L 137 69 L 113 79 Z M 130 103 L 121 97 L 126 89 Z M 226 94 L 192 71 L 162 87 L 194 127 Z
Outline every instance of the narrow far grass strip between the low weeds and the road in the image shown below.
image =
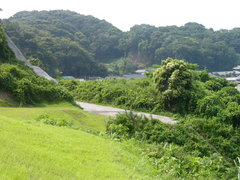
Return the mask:
M 108 117 L 90 114 L 70 104 L 48 105 L 48 107 L 34 108 L 1 108 L 1 114 L 16 120 L 34 121 L 41 114 L 48 114 L 53 118 L 72 120 L 74 127 L 83 129 L 105 130 L 105 122 Z

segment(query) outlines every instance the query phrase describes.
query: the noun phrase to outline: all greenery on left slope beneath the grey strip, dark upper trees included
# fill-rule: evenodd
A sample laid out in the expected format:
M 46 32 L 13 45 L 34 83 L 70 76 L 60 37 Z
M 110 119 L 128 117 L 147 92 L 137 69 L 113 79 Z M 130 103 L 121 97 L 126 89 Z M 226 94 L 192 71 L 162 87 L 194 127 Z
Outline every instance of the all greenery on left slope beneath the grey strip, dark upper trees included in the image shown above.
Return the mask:
M 7 45 L 1 24 L 0 47 L 0 90 L 10 93 L 19 105 L 60 101 L 73 103 L 73 97 L 66 89 L 36 76 L 32 69 L 16 60 Z

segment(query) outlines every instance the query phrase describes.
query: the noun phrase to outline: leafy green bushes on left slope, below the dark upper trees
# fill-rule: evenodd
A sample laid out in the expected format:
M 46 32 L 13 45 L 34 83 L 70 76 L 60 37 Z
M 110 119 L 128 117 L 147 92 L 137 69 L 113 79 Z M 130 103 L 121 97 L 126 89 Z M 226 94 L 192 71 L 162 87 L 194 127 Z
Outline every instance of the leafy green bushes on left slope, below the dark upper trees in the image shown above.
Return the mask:
M 23 66 L 24 67 L 24 66 Z M 36 76 L 32 70 L 20 65 L 0 64 L 0 87 L 20 104 L 40 102 L 73 102 L 73 97 L 54 82 Z

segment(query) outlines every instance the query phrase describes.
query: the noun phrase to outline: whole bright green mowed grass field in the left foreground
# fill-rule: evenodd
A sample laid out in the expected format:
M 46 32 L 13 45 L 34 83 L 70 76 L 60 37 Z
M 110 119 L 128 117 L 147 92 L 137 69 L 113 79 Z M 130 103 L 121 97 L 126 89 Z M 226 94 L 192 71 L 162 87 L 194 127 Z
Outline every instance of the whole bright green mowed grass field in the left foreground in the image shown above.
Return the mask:
M 0 108 L 0 179 L 151 179 L 151 165 L 126 143 L 36 121 L 43 113 L 100 131 L 108 119 L 69 104 Z

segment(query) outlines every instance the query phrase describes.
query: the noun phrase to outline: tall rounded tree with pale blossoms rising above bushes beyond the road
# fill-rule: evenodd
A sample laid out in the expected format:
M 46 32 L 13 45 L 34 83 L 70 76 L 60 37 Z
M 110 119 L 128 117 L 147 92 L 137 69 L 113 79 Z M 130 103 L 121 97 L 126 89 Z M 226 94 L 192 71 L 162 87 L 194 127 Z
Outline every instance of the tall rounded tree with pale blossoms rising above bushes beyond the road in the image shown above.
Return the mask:
M 182 60 L 168 58 L 153 74 L 163 108 L 172 112 L 183 112 L 189 108 L 195 66 Z

